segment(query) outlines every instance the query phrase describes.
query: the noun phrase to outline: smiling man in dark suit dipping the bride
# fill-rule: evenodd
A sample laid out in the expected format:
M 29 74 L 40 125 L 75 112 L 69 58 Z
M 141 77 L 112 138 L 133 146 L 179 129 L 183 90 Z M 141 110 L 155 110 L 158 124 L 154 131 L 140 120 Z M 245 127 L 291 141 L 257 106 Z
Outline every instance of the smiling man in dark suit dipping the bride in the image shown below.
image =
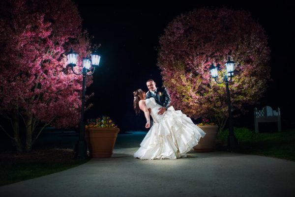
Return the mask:
M 170 105 L 171 98 L 166 88 L 156 87 L 156 83 L 149 79 L 147 81 L 148 92 L 146 93 L 146 99 L 153 97 L 157 104 L 161 105 L 158 114 L 163 114 Z

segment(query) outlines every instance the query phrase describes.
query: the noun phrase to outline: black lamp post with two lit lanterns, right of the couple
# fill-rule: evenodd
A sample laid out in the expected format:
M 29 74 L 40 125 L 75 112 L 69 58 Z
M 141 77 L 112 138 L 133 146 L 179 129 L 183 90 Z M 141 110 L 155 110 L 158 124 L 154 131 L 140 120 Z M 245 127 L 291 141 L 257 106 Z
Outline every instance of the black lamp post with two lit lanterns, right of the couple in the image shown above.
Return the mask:
M 230 97 L 230 88 L 229 88 L 229 83 L 232 82 L 232 78 L 234 77 L 234 65 L 235 62 L 231 61 L 230 58 L 229 60 L 225 63 L 226 66 L 226 71 L 227 75 L 224 75 L 223 81 L 219 82 L 218 81 L 218 69 L 219 65 L 214 66 L 214 64 L 211 65 L 210 71 L 211 75 L 214 78 L 215 82 L 217 84 L 222 84 L 225 83 L 226 85 L 226 93 L 227 93 L 227 99 L 228 99 L 228 108 L 229 108 L 229 136 L 228 136 L 228 148 L 229 150 L 233 151 L 237 147 L 237 139 L 234 134 L 234 127 L 233 127 L 233 114 L 232 114 L 232 108 L 231 108 L 231 97 Z M 229 79 L 230 78 L 230 79 Z

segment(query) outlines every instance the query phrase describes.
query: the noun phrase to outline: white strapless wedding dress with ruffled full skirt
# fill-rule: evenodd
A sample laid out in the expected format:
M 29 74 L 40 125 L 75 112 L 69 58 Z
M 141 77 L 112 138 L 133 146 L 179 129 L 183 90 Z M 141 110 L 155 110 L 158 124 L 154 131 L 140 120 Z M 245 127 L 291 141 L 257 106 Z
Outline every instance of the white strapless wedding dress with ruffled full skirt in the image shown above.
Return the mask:
M 134 153 L 135 158 L 142 160 L 177 159 L 186 157 L 186 153 L 198 144 L 206 133 L 180 110 L 171 106 L 159 115 L 159 104 L 153 97 L 146 99 L 150 109 L 153 126 L 141 142 L 141 147 Z

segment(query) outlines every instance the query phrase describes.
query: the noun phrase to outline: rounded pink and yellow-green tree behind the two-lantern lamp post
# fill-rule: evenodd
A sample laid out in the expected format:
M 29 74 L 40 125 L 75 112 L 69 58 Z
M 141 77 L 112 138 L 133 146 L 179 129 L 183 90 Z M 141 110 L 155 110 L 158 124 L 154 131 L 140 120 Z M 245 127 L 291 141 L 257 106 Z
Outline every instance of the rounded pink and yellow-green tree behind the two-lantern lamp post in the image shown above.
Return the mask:
M 225 84 L 210 76 L 212 63 L 236 62 L 230 84 L 232 108 L 244 112 L 266 90 L 270 49 L 250 13 L 201 8 L 175 18 L 159 40 L 158 66 L 172 105 L 193 118 L 207 117 L 222 130 L 228 118 Z M 219 73 L 224 76 L 225 73 Z

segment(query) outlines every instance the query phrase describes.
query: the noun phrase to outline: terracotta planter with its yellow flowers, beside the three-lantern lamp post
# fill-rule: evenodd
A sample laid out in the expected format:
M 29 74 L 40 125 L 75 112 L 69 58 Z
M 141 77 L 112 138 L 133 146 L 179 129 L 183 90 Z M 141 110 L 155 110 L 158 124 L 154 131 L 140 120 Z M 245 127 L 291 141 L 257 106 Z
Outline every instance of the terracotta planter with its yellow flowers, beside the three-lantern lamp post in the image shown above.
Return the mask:
M 88 119 L 86 140 L 90 157 L 111 157 L 120 129 L 108 116 Z

